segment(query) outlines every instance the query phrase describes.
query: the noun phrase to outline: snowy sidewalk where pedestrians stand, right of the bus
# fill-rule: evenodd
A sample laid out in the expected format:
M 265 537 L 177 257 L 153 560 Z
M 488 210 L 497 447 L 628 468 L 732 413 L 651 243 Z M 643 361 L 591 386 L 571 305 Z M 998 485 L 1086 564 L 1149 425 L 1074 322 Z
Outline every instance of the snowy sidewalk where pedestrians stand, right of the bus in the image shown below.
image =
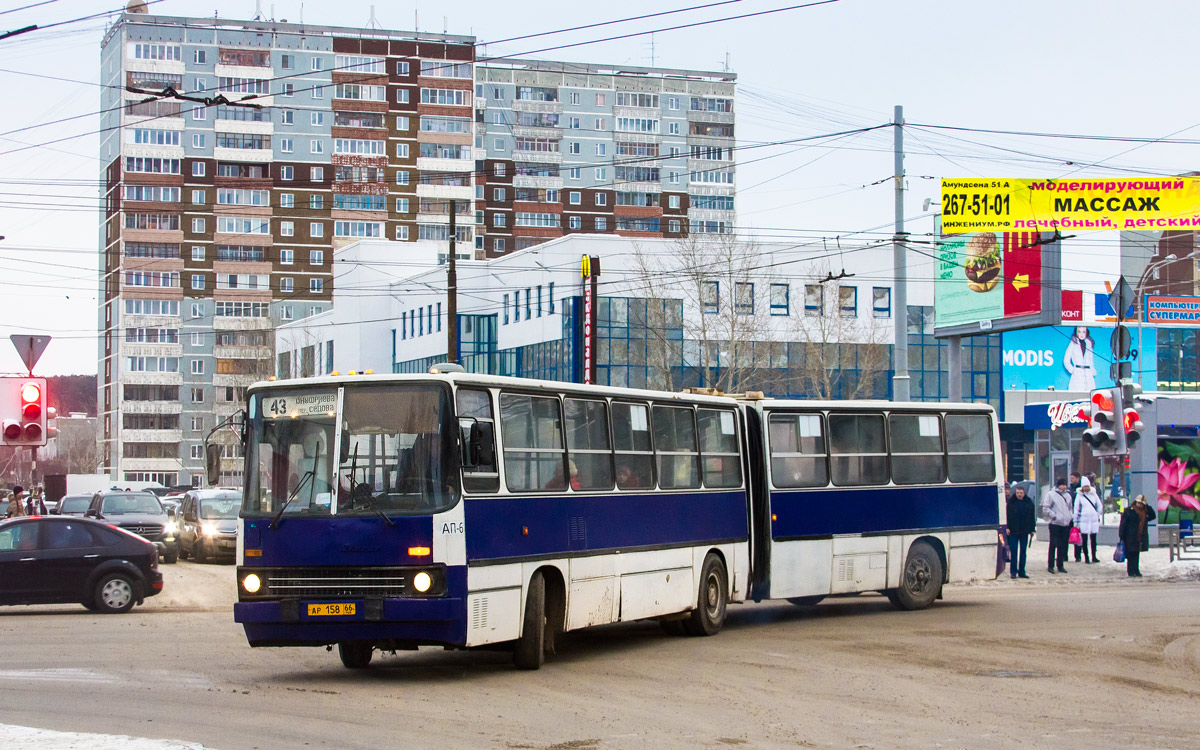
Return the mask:
M 1146 581 L 1200 581 L 1200 556 L 1189 554 L 1190 559 L 1170 560 L 1170 550 L 1166 547 L 1151 547 L 1148 552 L 1141 553 L 1141 578 L 1130 578 L 1126 575 L 1124 563 L 1112 562 L 1111 546 L 1097 547 L 1099 563 L 1087 565 L 1075 562 L 1075 548 L 1067 547 L 1067 572 L 1051 575 L 1046 570 L 1046 556 L 1049 548 L 1046 542 L 1036 541 L 1030 546 L 1026 558 L 1025 572 L 1028 580 L 1009 577 L 1009 569 L 1006 565 L 1004 572 L 995 581 L 976 581 L 965 586 L 1069 586 L 1072 583 L 1115 583 L 1126 586 L 1138 586 Z

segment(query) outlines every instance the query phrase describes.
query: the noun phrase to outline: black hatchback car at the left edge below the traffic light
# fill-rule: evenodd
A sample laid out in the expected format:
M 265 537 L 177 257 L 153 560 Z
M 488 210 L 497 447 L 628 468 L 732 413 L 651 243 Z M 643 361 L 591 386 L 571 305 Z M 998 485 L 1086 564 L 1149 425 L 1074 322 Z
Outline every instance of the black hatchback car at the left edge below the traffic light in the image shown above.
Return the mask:
M 0 521 L 0 605 L 78 601 L 115 614 L 160 592 L 158 551 L 137 534 L 73 516 Z

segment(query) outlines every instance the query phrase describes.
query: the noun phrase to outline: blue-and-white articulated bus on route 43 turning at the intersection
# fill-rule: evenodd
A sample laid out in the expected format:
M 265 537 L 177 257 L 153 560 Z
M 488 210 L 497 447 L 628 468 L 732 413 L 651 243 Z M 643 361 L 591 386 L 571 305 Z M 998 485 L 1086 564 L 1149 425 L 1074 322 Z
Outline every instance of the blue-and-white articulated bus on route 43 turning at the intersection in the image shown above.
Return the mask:
M 731 602 L 994 578 L 992 409 L 781 401 L 446 372 L 259 383 L 236 622 L 251 646 L 511 643 Z

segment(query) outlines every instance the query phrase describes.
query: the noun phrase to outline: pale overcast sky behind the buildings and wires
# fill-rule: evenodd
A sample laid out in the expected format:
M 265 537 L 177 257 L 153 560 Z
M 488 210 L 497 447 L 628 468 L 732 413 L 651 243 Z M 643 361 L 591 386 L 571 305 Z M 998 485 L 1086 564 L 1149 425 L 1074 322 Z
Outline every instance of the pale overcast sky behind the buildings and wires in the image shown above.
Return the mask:
M 34 0 L 10 0 L 10 6 Z M 712 1 L 712 0 L 709 0 Z M 613 20 L 702 0 L 376 2 L 379 24 L 475 35 L 480 41 Z M 522 54 L 688 22 L 796 5 L 742 0 L 688 13 L 526 42 Z M 116 0 L 54 0 L 0 14 L 0 32 L 110 11 Z M 304 20 L 366 25 L 368 0 L 304 4 Z M 298 1 L 263 0 L 264 16 L 298 22 Z M 570 8 L 570 10 L 568 10 Z M 252 0 L 162 0 L 164 16 L 251 18 Z M 840 0 L 820 7 L 572 47 L 540 55 L 721 70 L 738 74 L 739 145 L 906 120 L 1044 133 L 1200 138 L 1190 73 L 1200 4 L 1098 0 Z M 55 337 L 40 374 L 96 371 L 98 59 L 106 19 L 0 41 L 0 335 Z M 652 56 L 653 55 L 653 56 Z M 49 80 L 30 76 L 59 77 Z M 59 125 L 52 120 L 77 118 Z M 17 131 L 18 128 L 28 128 Z M 60 140 L 62 139 L 62 140 Z M 55 142 L 55 143 L 50 143 Z M 30 144 L 37 148 L 24 149 Z M 932 229 L 925 198 L 942 176 L 1176 174 L 1196 148 L 906 128 L 908 230 Z M 24 150 L 22 150 L 24 149 Z M 1099 163 L 1098 163 L 1099 162 Z M 764 239 L 852 248 L 890 235 L 892 128 L 739 152 L 739 229 Z M 882 180 L 882 181 L 881 181 Z M 936 210 L 936 206 L 935 206 Z M 1085 254 L 1116 252 L 1111 233 L 1072 240 Z M 848 263 L 848 262 L 847 262 Z M 858 269 L 889 275 L 890 269 Z M 1072 269 L 1079 276 L 1088 269 Z M 20 362 L 0 342 L 0 372 Z

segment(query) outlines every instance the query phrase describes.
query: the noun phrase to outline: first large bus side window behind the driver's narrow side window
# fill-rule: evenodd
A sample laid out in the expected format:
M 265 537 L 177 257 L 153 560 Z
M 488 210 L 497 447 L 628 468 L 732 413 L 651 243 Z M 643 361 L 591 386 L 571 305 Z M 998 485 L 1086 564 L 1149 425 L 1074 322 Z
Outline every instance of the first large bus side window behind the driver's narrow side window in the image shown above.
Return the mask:
M 500 394 L 504 481 L 510 492 L 566 488 L 558 398 Z

